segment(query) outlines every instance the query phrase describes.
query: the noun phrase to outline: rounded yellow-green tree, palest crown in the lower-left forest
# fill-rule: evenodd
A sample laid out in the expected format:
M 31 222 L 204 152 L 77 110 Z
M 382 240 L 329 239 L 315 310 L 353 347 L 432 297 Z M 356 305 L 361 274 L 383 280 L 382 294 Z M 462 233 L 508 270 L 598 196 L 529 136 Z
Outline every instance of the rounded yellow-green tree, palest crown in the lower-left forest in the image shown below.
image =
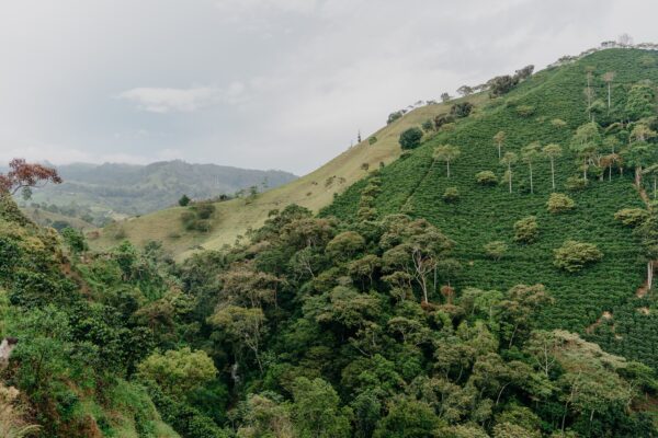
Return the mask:
M 138 374 L 152 381 L 167 394 L 181 396 L 215 379 L 217 369 L 203 350 L 189 347 L 154 353 L 137 366 Z

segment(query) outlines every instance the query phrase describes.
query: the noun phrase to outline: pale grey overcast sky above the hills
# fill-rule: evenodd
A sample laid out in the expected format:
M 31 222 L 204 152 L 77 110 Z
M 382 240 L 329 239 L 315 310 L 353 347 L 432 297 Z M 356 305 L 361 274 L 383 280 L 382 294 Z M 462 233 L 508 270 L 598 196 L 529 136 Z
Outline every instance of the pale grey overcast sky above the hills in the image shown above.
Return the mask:
M 0 164 L 305 174 L 419 100 L 628 33 L 655 0 L 0 0 Z

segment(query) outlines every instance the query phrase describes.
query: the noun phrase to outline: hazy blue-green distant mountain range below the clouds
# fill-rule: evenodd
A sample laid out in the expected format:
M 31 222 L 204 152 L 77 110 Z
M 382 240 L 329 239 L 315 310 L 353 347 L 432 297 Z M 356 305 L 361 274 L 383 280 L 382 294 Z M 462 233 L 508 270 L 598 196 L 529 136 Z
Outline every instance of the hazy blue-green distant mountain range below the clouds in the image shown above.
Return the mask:
M 205 199 L 256 186 L 259 192 L 296 180 L 276 170 L 250 170 L 181 160 L 148 165 L 75 163 L 57 165 L 64 183 L 35 191 L 32 203 L 89 208 L 112 215 L 143 215 L 174 205 L 186 194 Z

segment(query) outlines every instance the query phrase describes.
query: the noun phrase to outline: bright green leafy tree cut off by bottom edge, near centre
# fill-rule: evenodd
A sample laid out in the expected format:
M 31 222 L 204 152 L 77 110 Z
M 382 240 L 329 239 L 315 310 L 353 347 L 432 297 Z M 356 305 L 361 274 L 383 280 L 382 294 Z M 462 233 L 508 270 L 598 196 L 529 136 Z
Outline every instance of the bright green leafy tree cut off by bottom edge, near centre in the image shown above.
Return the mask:
M 293 383 L 292 416 L 299 438 L 348 438 L 352 412 L 340 407 L 340 399 L 331 384 L 322 379 L 305 377 Z

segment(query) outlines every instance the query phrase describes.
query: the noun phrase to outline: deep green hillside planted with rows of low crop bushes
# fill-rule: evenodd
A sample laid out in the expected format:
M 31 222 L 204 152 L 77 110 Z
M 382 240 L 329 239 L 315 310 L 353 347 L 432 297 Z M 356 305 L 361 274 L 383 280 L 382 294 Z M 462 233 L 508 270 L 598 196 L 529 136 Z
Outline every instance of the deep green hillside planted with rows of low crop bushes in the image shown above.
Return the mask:
M 656 316 L 651 312 L 645 315 L 636 311 L 640 306 L 651 307 L 650 298 L 642 302 L 635 298 L 644 273 L 638 242 L 631 230 L 613 219 L 621 208 L 643 206 L 631 172 L 626 172 L 626 177 L 615 175 L 612 182 L 597 181 L 583 192 L 569 193 L 577 208 L 566 215 L 546 211 L 545 203 L 551 193 L 547 161 L 535 165 L 534 195 L 519 189 L 510 195 L 506 185 L 485 188 L 475 182 L 475 174 L 483 170 L 502 176 L 504 169 L 498 163 L 491 137 L 503 129 L 508 135 L 506 150 L 519 152 L 522 146 L 535 140 L 542 145 L 563 145 L 566 153 L 557 163 L 557 182 L 558 192 L 564 192 L 566 178 L 578 172 L 574 155 L 568 151 L 568 140 L 575 128 L 586 122 L 585 67 L 594 66 L 598 78 L 605 71 L 616 71 L 613 99 L 623 102 L 623 88 L 628 83 L 658 80 L 656 68 L 642 65 L 640 59 L 646 56 L 658 60 L 656 53 L 605 50 L 575 65 L 535 74 L 506 96 L 507 104 L 492 102 L 478 115 L 460 123 L 453 132 L 440 134 L 411 157 L 385 169 L 383 194 L 377 197 L 376 207 L 382 215 L 401 210 L 427 218 L 452 238 L 465 265 L 460 286 L 504 290 L 518 283 L 543 283 L 556 298 L 556 304 L 542 316 L 545 326 L 583 332 L 603 311 L 611 311 L 613 319 L 602 324 L 592 337 L 610 350 L 658 366 Z M 594 87 L 599 96 L 605 95 L 604 84 L 599 79 Z M 535 113 L 522 117 L 517 112 L 518 105 L 532 105 Z M 556 117 L 566 120 L 568 126 L 556 129 L 549 123 Z M 445 165 L 431 158 L 433 148 L 443 142 L 458 145 L 463 152 L 452 165 L 450 180 Z M 521 181 L 527 181 L 526 169 L 522 163 L 514 166 L 518 188 Z M 354 215 L 364 185 L 365 181 L 348 189 L 325 215 L 343 218 Z M 458 203 L 443 201 L 442 195 L 449 186 L 458 187 L 462 195 Z M 531 245 L 518 244 L 513 242 L 513 223 L 530 215 L 537 217 L 541 238 Z M 575 275 L 557 270 L 553 266 L 553 250 L 568 239 L 598 244 L 605 254 L 603 261 Z M 484 244 L 495 240 L 510 245 L 508 255 L 499 262 L 488 258 L 483 250 Z M 616 335 L 611 332 L 613 326 Z

